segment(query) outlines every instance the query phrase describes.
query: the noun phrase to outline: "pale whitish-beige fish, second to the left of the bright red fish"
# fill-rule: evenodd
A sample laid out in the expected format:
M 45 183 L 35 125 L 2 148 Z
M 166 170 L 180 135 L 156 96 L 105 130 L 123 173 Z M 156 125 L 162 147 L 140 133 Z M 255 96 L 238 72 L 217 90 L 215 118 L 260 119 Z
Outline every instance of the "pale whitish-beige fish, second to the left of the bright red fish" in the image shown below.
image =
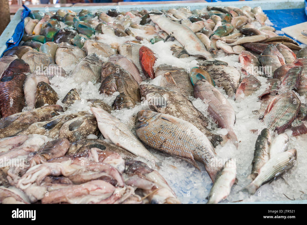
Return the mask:
M 101 55 L 102 57 L 109 57 L 118 53 L 117 50 L 111 48 L 110 45 L 94 40 L 86 40 L 84 42 L 84 49 L 87 55 L 96 53 L 98 56 Z

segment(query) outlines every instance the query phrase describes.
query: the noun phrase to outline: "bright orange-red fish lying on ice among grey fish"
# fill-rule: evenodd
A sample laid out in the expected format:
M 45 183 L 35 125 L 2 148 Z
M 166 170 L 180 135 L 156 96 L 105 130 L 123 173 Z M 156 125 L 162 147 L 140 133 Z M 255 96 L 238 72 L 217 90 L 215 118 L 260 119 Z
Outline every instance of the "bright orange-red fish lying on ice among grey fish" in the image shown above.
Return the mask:
M 140 64 L 142 65 L 143 73 L 146 77 L 154 78 L 153 65 L 157 58 L 154 56 L 152 50 L 146 46 L 142 46 L 139 50 L 140 54 Z

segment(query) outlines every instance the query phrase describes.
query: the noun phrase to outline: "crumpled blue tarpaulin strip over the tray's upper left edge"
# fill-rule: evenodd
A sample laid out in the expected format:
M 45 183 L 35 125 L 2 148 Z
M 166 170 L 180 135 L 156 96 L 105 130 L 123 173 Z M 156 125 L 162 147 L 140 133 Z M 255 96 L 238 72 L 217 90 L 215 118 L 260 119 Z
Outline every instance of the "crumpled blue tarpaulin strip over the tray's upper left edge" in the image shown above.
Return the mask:
M 13 48 L 14 46 L 19 45 L 19 42 L 21 41 L 21 38 L 23 36 L 23 30 L 24 30 L 24 19 L 29 16 L 29 13 L 31 10 L 25 5 L 22 5 L 24 7 L 24 10 L 21 13 L 21 21 L 17 24 L 14 34 L 12 37 L 10 37 L 9 40 L 6 41 L 6 47 L 7 49 L 4 51 L 6 52 L 7 50 Z M 3 53 L 2 53 L 3 55 Z M 2 56 L 1 56 L 2 57 Z

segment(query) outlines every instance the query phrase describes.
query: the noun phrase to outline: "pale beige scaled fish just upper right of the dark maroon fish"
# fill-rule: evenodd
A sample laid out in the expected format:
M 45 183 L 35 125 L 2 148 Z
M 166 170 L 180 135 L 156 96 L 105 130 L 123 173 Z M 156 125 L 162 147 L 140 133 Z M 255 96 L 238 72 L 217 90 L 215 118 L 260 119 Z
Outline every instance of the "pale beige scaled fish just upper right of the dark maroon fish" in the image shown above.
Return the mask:
M 31 72 L 54 63 L 53 57 L 47 55 L 46 53 L 37 52 L 34 50 L 26 52 L 21 59 L 29 64 Z

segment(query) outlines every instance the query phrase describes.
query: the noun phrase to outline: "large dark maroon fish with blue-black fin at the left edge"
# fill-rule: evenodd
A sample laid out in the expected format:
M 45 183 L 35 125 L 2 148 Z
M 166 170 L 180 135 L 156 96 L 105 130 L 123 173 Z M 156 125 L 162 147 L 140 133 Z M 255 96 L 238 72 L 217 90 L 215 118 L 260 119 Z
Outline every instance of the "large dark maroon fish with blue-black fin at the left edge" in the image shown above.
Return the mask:
M 0 113 L 2 118 L 20 113 L 25 106 L 23 83 L 25 74 L 31 73 L 29 65 L 15 59 L 3 72 L 0 80 Z

